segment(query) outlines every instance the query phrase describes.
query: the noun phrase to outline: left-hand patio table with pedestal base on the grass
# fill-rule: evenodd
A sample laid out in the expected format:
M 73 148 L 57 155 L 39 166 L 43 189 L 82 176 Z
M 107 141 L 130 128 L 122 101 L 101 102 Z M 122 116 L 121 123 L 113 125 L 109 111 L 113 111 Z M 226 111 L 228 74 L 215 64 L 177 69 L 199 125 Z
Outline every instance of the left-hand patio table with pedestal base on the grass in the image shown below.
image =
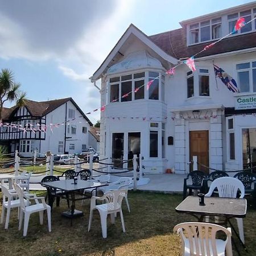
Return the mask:
M 67 197 L 69 197 L 69 195 L 71 196 L 71 201 L 72 201 L 71 210 L 68 210 L 62 213 L 63 216 L 71 218 L 71 225 L 72 225 L 73 217 L 78 217 L 83 215 L 83 213 L 80 210 L 75 209 L 75 201 L 88 199 L 92 196 L 92 193 L 90 193 L 89 196 L 85 196 L 83 193 L 84 189 L 92 188 L 97 195 L 97 188 L 108 185 L 105 183 L 94 182 L 91 180 L 80 180 L 80 179 L 77 179 L 76 184 L 73 179 L 49 181 L 49 182 L 43 182 L 40 184 L 43 185 L 44 187 L 59 189 L 63 191 Z M 76 195 L 79 195 L 80 197 L 76 198 Z M 49 205 L 51 206 L 51 208 L 52 208 L 55 196 L 58 196 L 58 194 L 55 193 L 54 195 L 52 195 L 51 193 L 48 193 Z M 63 197 L 63 195 L 61 195 L 61 197 Z

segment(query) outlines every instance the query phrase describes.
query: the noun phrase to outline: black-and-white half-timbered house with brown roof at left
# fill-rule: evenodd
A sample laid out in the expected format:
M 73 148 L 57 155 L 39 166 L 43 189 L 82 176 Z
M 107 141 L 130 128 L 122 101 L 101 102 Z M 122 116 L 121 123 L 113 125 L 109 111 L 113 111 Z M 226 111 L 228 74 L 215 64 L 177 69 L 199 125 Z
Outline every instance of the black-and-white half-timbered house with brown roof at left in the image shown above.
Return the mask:
M 39 154 L 74 154 L 89 147 L 92 125 L 72 98 L 26 100 L 20 108 L 3 109 L 0 140 L 9 152 L 18 150 L 22 156 L 31 156 L 35 150 Z

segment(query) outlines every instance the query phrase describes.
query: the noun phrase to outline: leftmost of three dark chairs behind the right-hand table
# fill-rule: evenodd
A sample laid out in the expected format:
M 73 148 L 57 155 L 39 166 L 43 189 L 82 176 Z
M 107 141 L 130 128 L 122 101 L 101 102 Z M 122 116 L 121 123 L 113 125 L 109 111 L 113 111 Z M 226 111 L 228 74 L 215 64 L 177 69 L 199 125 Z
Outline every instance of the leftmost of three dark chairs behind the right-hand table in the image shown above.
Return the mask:
M 188 176 L 184 179 L 183 184 L 183 199 L 187 196 L 187 190 L 189 190 L 188 195 L 192 195 L 192 190 L 199 190 L 200 192 L 204 192 L 203 180 L 206 175 L 201 171 L 192 171 L 188 174 Z M 188 179 L 191 179 L 192 184 L 187 184 Z

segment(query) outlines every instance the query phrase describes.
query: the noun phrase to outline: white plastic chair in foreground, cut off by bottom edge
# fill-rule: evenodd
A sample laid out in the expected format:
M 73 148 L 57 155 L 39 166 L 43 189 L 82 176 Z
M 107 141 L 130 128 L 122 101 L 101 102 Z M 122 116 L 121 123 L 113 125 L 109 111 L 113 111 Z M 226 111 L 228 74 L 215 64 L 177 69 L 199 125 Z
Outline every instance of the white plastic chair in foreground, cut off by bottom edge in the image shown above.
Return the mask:
M 226 240 L 216 238 L 224 232 Z M 232 256 L 231 229 L 205 222 L 184 222 L 174 227 L 181 236 L 184 256 Z M 226 251 L 226 254 L 225 254 Z

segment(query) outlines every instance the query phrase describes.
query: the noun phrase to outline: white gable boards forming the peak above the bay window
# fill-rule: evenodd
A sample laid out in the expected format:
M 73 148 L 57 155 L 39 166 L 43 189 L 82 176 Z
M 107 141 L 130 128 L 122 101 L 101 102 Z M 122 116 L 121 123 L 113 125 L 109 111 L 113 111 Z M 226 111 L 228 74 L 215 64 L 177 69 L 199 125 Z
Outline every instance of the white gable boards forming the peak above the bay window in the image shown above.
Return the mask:
M 136 38 L 141 40 L 144 44 L 146 44 L 146 46 L 150 47 L 155 53 L 157 53 L 164 60 L 172 64 L 177 64 L 177 59 L 175 59 L 175 57 L 168 55 L 165 51 L 163 51 L 162 48 L 157 46 L 150 39 L 150 37 L 148 37 L 141 30 L 139 30 L 139 28 L 134 26 L 134 24 L 130 24 L 130 26 L 127 28 L 125 33 L 121 36 L 121 38 L 118 40 L 117 44 L 115 44 L 114 48 L 112 49 L 112 51 L 110 51 L 109 55 L 106 57 L 106 59 L 97 69 L 97 71 L 94 72 L 92 77 L 90 77 L 90 80 L 92 82 L 98 80 L 102 76 L 102 73 L 105 73 L 106 69 L 108 69 L 112 64 L 117 63 L 118 56 L 122 55 L 122 53 L 119 52 L 119 50 L 125 44 L 126 40 L 129 38 L 130 35 L 136 36 Z

